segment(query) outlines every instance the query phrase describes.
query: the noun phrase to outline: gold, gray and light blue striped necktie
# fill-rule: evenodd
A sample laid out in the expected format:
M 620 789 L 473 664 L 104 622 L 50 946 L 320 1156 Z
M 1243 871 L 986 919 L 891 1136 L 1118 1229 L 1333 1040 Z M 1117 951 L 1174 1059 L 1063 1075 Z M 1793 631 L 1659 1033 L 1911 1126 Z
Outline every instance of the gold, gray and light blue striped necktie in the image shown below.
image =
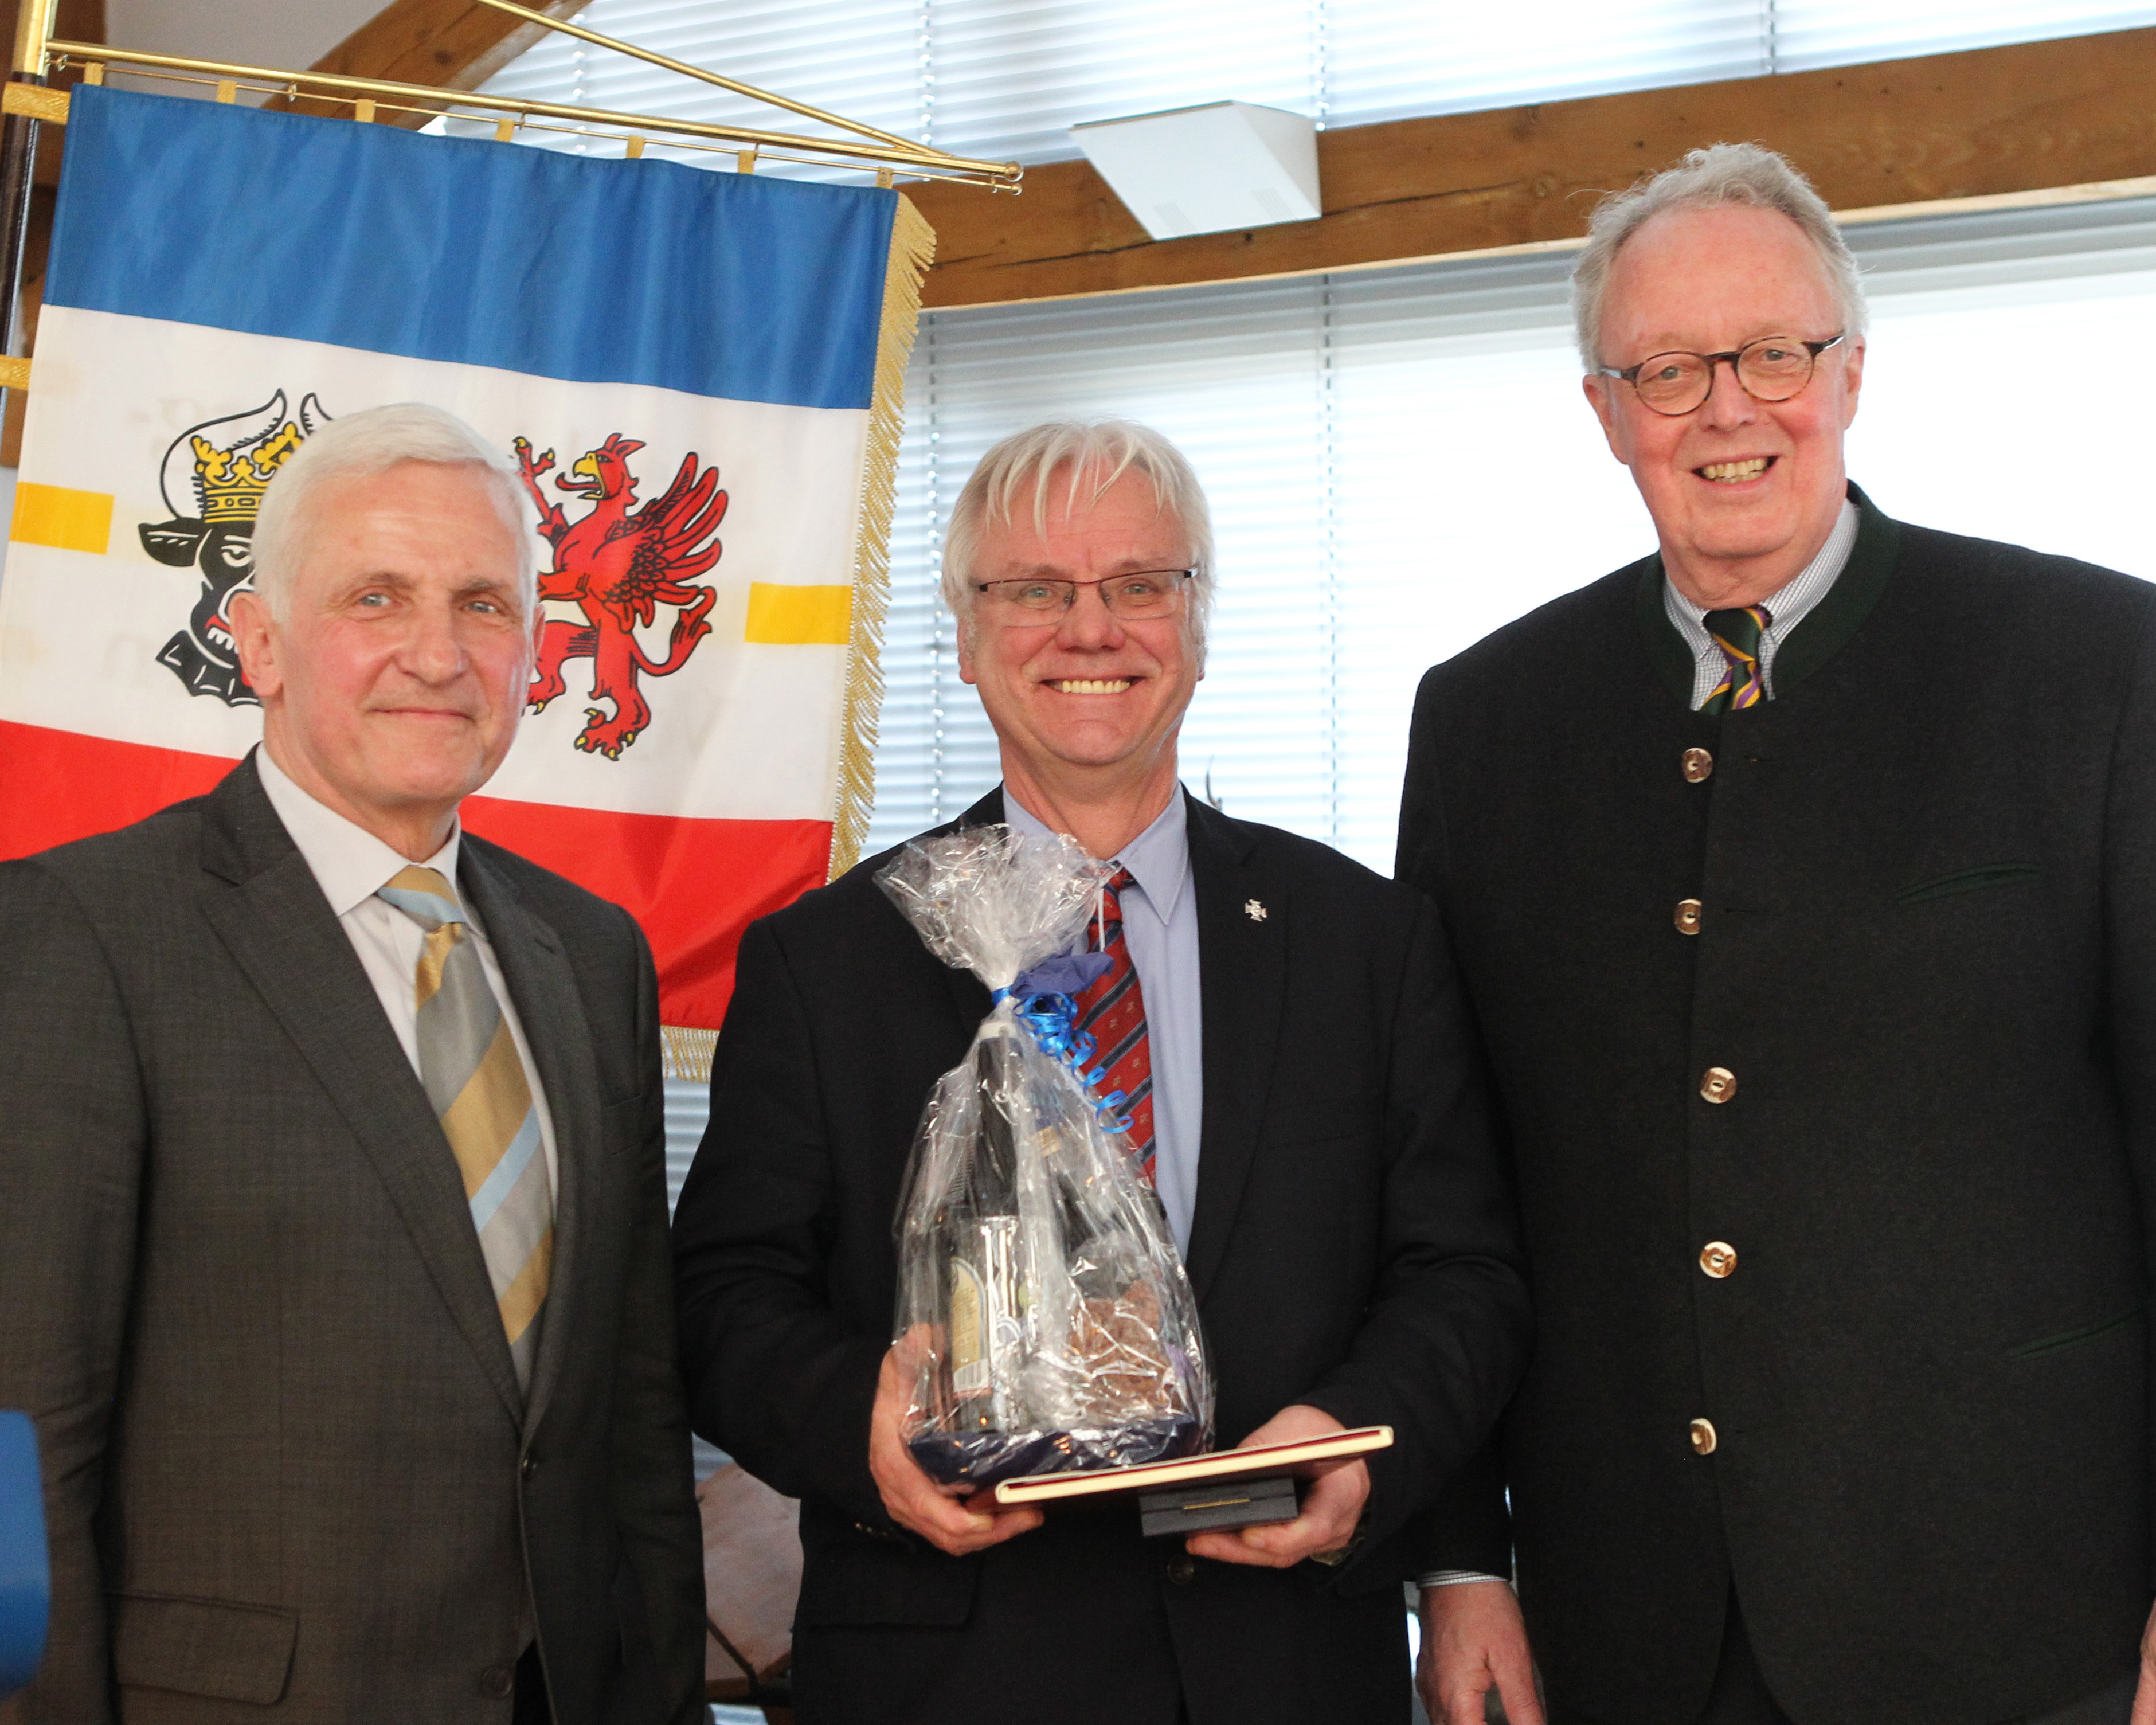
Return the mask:
M 399 869 L 377 897 L 427 932 L 418 955 L 418 1076 L 464 1173 L 517 1386 L 530 1389 L 554 1264 L 554 1192 L 524 1061 L 442 873 Z

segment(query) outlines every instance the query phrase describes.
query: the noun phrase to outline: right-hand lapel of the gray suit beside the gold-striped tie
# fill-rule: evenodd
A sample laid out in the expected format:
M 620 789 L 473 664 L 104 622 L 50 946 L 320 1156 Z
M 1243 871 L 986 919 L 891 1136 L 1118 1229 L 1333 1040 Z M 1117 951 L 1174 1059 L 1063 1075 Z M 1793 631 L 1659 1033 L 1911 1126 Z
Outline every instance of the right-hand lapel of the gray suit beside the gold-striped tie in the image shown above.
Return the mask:
M 539 1067 L 548 1115 L 554 1123 L 554 1268 L 548 1276 L 545 1311 L 539 1320 L 539 1354 L 533 1361 L 524 1430 L 537 1430 L 545 1404 L 561 1382 L 563 1350 L 580 1326 L 586 1289 L 580 1276 L 586 1240 L 604 1199 L 597 1158 L 604 1154 L 599 1126 L 599 1067 L 591 1052 L 591 1024 L 576 972 L 552 925 L 533 914 L 509 878 L 466 839 L 459 886 L 487 929 L 494 960 L 517 1007 L 517 1022 Z M 474 1236 L 476 1238 L 476 1236 Z M 489 1298 L 492 1313 L 492 1298 Z M 494 1317 L 500 1335 L 500 1317 Z M 502 1358 L 507 1358 L 507 1348 Z M 511 1376 L 513 1382 L 513 1376 Z

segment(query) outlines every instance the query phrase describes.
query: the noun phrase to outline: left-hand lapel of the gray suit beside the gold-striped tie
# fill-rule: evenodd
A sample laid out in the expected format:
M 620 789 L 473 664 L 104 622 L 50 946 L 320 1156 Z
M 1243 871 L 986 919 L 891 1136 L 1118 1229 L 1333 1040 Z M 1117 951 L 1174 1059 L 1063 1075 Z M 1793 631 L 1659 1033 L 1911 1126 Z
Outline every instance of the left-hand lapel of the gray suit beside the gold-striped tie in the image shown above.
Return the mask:
M 345 1117 L 511 1417 L 515 1365 L 464 1177 L 351 940 L 244 761 L 203 811 L 203 914 Z

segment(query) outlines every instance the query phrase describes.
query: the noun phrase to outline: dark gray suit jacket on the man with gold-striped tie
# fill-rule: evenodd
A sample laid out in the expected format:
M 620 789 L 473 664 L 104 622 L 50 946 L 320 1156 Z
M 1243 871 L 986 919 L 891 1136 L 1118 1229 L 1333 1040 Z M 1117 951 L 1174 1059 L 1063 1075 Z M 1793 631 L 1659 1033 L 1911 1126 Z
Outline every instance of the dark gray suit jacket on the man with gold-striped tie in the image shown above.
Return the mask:
M 448 1145 L 252 761 L 0 865 L 0 1406 L 54 1557 L 32 1721 L 701 1719 L 658 996 L 479 839 L 561 1160 L 528 1404 Z

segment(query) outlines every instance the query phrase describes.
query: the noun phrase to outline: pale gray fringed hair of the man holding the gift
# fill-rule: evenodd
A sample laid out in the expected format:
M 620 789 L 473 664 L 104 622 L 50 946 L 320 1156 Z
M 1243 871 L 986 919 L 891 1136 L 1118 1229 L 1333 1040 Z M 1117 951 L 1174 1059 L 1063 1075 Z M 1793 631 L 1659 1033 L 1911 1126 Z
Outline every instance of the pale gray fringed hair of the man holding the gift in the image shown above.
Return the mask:
M 1048 420 L 1013 431 L 981 457 L 957 502 L 951 505 L 951 526 L 944 528 L 942 595 L 959 627 L 972 627 L 972 561 L 981 550 L 981 535 L 990 526 L 1011 522 L 1020 494 L 1028 489 L 1033 526 L 1046 530 L 1048 489 L 1059 472 L 1069 474 L 1065 518 L 1080 505 L 1080 496 L 1091 505 L 1125 472 L 1145 474 L 1153 487 L 1153 502 L 1190 535 L 1190 563 L 1197 569 L 1190 582 L 1190 621 L 1192 638 L 1203 643 L 1214 593 L 1212 511 L 1205 507 L 1205 489 L 1175 444 L 1149 425 L 1128 418 Z M 1082 494 L 1087 483 L 1091 489 Z

